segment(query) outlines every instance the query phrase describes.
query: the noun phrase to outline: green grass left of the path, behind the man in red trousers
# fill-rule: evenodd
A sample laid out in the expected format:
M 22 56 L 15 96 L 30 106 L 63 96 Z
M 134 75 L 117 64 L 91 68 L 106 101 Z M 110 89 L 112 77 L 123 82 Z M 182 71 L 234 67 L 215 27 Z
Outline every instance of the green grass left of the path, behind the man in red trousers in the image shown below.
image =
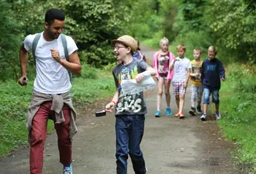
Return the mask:
M 0 156 L 7 156 L 20 145 L 27 144 L 26 113 L 31 102 L 33 81 L 21 87 L 15 80 L 0 83 Z M 91 103 L 113 96 L 114 86 L 111 71 L 102 71 L 83 66 L 80 76 L 73 78 L 72 99 L 75 103 Z M 53 131 L 53 121 L 48 121 L 48 132 Z

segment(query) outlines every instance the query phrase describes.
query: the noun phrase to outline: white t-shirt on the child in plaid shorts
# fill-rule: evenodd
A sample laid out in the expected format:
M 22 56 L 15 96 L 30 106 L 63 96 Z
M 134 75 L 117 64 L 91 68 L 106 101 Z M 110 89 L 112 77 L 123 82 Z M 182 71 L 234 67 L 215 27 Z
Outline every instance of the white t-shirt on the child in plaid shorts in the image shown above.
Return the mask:
M 172 82 L 184 82 L 187 77 L 187 69 L 191 69 L 189 58 L 179 58 L 174 64 L 173 80 Z M 173 59 L 174 61 L 174 59 Z M 173 64 L 173 61 L 171 64 Z

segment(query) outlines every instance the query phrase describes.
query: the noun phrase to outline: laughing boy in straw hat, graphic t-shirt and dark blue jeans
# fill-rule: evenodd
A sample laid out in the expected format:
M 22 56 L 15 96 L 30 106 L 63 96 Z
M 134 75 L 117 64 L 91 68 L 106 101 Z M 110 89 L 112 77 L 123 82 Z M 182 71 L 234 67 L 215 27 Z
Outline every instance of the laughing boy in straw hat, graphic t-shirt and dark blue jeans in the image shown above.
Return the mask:
M 121 64 L 113 69 L 116 93 L 105 110 L 112 113 L 116 106 L 116 173 L 127 173 L 129 155 L 135 173 L 145 174 L 145 161 L 140 150 L 147 113 L 143 91 L 132 95 L 124 94 L 121 80 L 135 79 L 140 83 L 144 75 L 148 73 L 156 75 L 156 72 L 145 61 L 132 58 L 132 54 L 137 52 L 137 43 L 133 37 L 128 35 L 118 37 L 113 40 L 113 44 L 116 58 Z

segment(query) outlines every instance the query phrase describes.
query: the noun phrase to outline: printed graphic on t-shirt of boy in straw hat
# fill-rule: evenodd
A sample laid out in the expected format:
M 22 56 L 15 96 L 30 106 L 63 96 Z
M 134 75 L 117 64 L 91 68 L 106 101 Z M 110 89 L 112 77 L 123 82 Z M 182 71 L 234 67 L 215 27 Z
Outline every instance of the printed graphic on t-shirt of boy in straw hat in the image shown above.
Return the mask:
M 116 105 L 116 114 L 118 113 L 138 113 L 142 110 L 142 102 L 139 94 L 128 95 L 124 94 L 121 90 L 121 80 L 128 80 L 128 79 L 135 79 L 136 75 L 138 75 L 138 68 L 135 66 L 132 69 L 129 67 L 124 67 L 121 69 L 121 72 L 116 75 L 118 79 L 118 89 L 119 89 L 119 96 L 118 96 L 118 103 Z

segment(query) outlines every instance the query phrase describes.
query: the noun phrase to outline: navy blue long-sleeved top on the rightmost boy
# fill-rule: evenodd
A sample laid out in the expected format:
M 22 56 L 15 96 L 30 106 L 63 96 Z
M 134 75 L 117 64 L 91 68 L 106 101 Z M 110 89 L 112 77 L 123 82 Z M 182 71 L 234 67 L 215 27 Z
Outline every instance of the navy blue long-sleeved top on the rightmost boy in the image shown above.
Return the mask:
M 203 88 L 219 90 L 220 78 L 222 77 L 225 78 L 225 69 L 222 61 L 220 61 L 218 58 L 214 58 L 211 61 L 207 58 L 203 61 L 201 68 Z

